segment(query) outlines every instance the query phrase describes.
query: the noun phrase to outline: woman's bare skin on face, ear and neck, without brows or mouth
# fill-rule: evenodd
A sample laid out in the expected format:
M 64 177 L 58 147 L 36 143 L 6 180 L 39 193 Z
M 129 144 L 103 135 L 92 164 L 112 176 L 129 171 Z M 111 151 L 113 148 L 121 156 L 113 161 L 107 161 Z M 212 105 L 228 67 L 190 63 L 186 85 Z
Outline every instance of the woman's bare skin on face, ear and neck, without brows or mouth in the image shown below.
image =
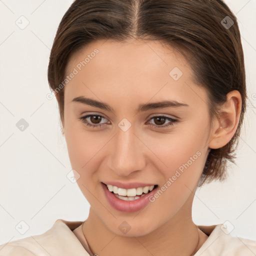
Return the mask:
M 77 184 L 90 203 L 83 233 L 93 253 L 118 255 L 191 255 L 207 239 L 191 218 L 194 192 L 210 148 L 224 146 L 238 125 L 241 97 L 227 94 L 219 118 L 210 119 L 206 90 L 192 82 L 189 63 L 170 46 L 158 41 L 94 41 L 71 56 L 66 73 L 90 54 L 99 52 L 64 87 L 65 136 L 71 166 L 80 177 Z M 182 71 L 174 80 L 173 67 Z M 86 96 L 109 104 L 114 113 L 79 102 Z M 57 95 L 56 95 L 57 97 Z M 136 112 L 141 103 L 173 99 L 188 104 Z M 58 98 L 57 98 L 58 100 Z M 86 114 L 103 118 L 99 128 L 79 119 Z M 153 116 L 178 119 L 162 127 Z M 131 127 L 118 123 L 126 118 Z M 86 119 L 98 125 L 92 117 Z M 152 127 L 150 124 L 158 127 Z M 111 207 L 100 186 L 104 180 L 149 182 L 161 187 L 196 151 L 201 154 L 154 201 L 142 210 L 125 213 Z M 124 234 L 118 226 L 131 227 Z

